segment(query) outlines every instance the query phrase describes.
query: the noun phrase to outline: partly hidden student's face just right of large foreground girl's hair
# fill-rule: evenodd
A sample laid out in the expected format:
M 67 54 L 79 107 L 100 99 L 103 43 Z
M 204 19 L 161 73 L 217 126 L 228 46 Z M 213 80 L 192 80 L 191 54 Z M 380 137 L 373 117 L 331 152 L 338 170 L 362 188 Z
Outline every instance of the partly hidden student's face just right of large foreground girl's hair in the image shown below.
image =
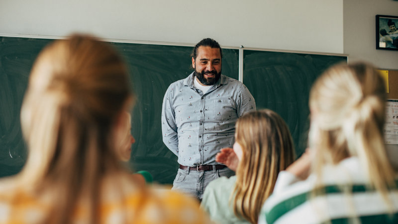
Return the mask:
M 128 112 L 122 113 L 120 117 L 120 129 L 116 136 L 117 154 L 122 161 L 128 161 L 131 157 L 131 145 L 135 143 L 134 137 L 131 135 L 131 115 Z

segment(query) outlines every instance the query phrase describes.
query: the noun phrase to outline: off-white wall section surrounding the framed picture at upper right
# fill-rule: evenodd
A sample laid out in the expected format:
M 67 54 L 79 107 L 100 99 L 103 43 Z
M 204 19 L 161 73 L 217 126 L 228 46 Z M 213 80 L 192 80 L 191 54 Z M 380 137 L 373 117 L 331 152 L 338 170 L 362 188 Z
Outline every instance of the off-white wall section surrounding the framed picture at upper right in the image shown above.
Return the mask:
M 398 16 L 398 1 L 344 0 L 344 54 L 349 62 L 366 60 L 398 70 L 398 51 L 376 50 L 376 15 Z

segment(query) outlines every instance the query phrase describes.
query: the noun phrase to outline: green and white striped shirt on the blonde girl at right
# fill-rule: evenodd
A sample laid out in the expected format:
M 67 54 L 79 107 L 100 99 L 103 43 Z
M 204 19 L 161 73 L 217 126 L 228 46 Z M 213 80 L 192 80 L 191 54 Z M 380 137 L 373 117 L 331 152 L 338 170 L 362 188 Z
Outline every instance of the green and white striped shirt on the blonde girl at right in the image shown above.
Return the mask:
M 315 176 L 300 181 L 280 172 L 273 194 L 265 202 L 259 224 L 398 223 L 398 189 L 390 189 L 389 207 L 356 157 L 324 168 L 321 188 L 315 191 Z M 396 181 L 398 185 L 398 181 Z

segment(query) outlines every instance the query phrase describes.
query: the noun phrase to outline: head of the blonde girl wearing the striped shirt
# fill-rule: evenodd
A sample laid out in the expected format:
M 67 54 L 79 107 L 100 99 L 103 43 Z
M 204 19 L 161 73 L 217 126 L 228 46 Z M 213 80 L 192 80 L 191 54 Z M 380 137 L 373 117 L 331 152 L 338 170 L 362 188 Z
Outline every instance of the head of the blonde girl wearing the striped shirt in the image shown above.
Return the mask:
M 328 69 L 310 92 L 310 143 L 315 148 L 327 144 L 322 149 L 328 149 L 337 163 L 361 153 L 362 138 L 382 141 L 385 94 L 383 78 L 368 64 Z

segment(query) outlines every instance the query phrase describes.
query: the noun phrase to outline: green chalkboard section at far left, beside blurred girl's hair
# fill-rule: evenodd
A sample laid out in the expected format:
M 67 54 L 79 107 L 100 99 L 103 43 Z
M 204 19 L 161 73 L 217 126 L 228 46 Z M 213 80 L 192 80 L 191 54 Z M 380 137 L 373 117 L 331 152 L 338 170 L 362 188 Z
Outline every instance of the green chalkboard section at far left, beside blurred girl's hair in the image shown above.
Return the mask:
M 0 39 L 0 176 L 12 175 L 26 160 L 19 112 L 33 62 L 49 43 L 42 39 Z

